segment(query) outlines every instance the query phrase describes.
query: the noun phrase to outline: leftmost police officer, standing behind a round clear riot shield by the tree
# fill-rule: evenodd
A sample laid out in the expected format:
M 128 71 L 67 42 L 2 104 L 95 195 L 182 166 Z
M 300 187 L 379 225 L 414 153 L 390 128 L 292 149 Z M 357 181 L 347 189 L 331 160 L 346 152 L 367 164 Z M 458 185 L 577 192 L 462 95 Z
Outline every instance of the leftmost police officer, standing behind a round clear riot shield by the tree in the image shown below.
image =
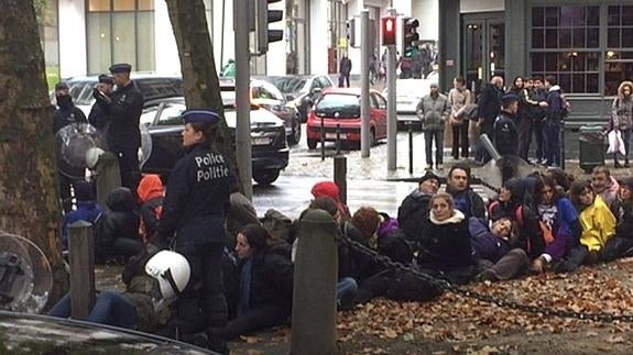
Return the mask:
M 86 115 L 79 108 L 73 103 L 68 86 L 64 82 L 55 85 L 55 100 L 57 109 L 53 113 L 53 133 L 57 134 L 59 130 L 73 123 L 88 123 Z M 57 159 L 59 165 L 59 197 L 64 212 L 68 213 L 73 209 L 73 199 L 70 195 L 70 185 L 75 179 L 83 177 L 83 169 L 72 167 L 63 158 Z

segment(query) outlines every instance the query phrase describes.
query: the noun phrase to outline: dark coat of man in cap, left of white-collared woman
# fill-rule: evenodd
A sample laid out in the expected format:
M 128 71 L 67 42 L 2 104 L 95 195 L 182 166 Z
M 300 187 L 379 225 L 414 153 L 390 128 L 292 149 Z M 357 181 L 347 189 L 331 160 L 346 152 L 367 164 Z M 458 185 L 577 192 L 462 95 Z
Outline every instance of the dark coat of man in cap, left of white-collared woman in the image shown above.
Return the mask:
M 422 224 L 428 217 L 432 197 L 433 195 L 424 193 L 416 188 L 397 208 L 397 222 L 408 241 L 418 238 Z

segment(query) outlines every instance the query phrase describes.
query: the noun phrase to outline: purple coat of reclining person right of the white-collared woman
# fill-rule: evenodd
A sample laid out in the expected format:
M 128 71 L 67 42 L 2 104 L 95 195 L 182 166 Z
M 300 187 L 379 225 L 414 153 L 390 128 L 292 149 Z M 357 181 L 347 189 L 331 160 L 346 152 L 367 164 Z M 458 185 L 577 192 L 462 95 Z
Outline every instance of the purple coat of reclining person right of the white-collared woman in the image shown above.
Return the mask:
M 494 235 L 488 228 L 485 220 L 469 219 L 468 231 L 471 237 L 472 251 L 479 258 L 496 263 L 511 249 L 510 242 L 506 238 Z

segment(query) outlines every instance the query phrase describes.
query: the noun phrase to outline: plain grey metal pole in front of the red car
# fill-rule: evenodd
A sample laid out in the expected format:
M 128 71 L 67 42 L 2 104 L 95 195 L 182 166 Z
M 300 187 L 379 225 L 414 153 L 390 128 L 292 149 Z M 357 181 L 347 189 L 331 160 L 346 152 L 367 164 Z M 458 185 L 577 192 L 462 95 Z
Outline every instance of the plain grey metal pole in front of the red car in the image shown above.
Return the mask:
M 369 45 L 369 10 L 360 11 L 360 156 L 369 158 L 370 152 L 370 127 L 369 127 L 369 56 L 371 55 Z

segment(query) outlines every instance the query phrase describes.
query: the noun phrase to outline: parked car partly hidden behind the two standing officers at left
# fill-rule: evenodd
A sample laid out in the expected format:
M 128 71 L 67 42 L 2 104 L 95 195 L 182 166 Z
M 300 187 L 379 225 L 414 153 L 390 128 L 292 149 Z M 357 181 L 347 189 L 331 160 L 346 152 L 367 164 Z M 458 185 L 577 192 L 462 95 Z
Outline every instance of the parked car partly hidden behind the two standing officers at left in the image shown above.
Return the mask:
M 132 73 L 130 78 L 139 88 L 145 101 L 183 96 L 183 79 L 179 75 L 159 75 Z M 64 80 L 68 85 L 73 102 L 88 117 L 95 98 L 92 89 L 99 76 L 73 77 Z

